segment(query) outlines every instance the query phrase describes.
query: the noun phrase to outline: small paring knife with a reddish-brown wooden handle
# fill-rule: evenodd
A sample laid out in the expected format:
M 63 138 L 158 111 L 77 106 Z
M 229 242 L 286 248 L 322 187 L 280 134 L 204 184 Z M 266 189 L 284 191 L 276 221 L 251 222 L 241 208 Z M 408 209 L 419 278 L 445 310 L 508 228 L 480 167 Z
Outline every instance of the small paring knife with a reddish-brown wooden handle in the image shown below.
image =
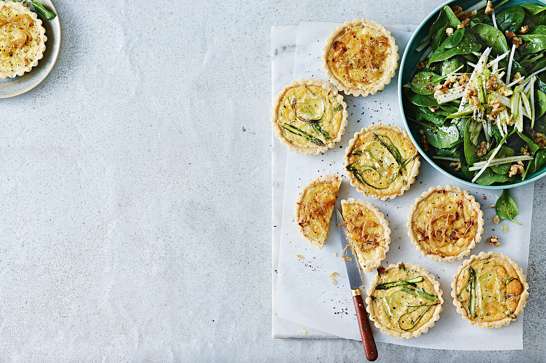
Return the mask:
M 347 241 L 347 228 L 345 226 L 345 220 L 341 215 L 339 209 L 337 211 L 337 231 L 340 234 L 340 241 L 342 249 L 349 244 Z M 360 294 L 360 286 L 363 285 L 362 276 L 360 275 L 360 268 L 358 267 L 357 256 L 354 255 L 353 250 L 349 247 L 345 250 L 344 255 L 345 267 L 347 267 L 347 275 L 349 276 L 349 286 L 351 287 L 351 293 L 353 295 L 354 308 L 357 311 L 358 327 L 360 328 L 360 336 L 362 337 L 362 345 L 364 346 L 364 352 L 366 353 L 366 359 L 374 361 L 377 359 L 377 347 L 375 340 L 373 339 L 373 333 L 370 328 L 370 320 L 368 320 L 368 314 L 364 307 L 364 301 Z

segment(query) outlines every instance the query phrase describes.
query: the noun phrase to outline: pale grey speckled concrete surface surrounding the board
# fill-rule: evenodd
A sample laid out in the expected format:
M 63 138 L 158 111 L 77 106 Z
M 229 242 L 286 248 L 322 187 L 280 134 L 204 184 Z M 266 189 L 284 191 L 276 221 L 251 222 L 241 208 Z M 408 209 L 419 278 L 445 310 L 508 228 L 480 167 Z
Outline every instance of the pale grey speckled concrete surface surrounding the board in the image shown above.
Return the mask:
M 270 28 L 439 3 L 56 1 L 54 70 L 1 101 L 0 361 L 362 361 L 360 342 L 271 338 Z M 544 186 L 524 352 L 379 361 L 544 360 Z

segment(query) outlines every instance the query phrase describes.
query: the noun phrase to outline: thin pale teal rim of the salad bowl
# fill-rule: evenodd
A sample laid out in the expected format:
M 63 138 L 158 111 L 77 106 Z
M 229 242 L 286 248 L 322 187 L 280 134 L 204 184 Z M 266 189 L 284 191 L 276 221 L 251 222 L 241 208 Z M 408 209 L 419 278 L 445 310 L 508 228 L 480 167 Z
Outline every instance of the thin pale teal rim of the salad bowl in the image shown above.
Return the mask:
M 544 1 L 540 1 L 540 0 L 530 0 L 530 2 L 532 2 L 532 3 L 542 3 L 542 4 L 546 5 L 546 3 Z M 444 174 L 444 176 L 448 177 L 449 179 L 452 179 L 452 180 L 456 181 L 457 183 L 464 184 L 466 186 L 477 187 L 479 189 L 512 189 L 512 188 L 515 188 L 515 187 L 518 187 L 518 186 L 522 186 L 522 185 L 525 185 L 525 184 L 532 183 L 535 180 L 541 179 L 542 177 L 546 176 L 546 169 L 542 170 L 542 172 L 539 172 L 539 174 L 536 175 L 536 176 L 533 176 L 533 177 L 531 177 L 529 179 L 526 179 L 524 181 L 521 181 L 519 183 L 514 183 L 514 184 L 510 184 L 510 185 L 481 185 L 481 184 L 471 183 L 470 181 L 460 179 L 460 178 L 448 173 L 447 171 L 443 170 L 443 168 L 436 165 L 436 163 L 434 161 L 432 161 L 432 159 L 429 157 L 429 155 L 427 155 L 424 152 L 424 150 L 420 147 L 419 142 L 413 137 L 413 134 L 412 134 L 411 129 L 410 129 L 410 125 L 407 122 L 406 114 L 404 112 L 404 108 L 403 108 L 403 105 L 402 105 L 402 90 L 403 90 L 403 88 L 402 88 L 402 86 L 403 86 L 403 84 L 402 84 L 402 78 L 403 78 L 402 74 L 403 74 L 404 66 L 406 65 L 406 58 L 408 56 L 408 53 L 410 52 L 411 44 L 413 44 L 413 41 L 417 37 L 417 34 L 425 26 L 426 22 L 428 22 L 433 16 L 435 16 L 438 13 L 438 11 L 440 11 L 440 9 L 442 9 L 444 6 L 449 5 L 449 4 L 456 4 L 456 3 L 457 3 L 456 0 L 448 0 L 448 1 L 444 2 L 443 4 L 441 4 L 440 6 L 438 6 L 436 9 L 432 10 L 431 13 L 427 17 L 425 17 L 425 19 L 422 22 L 419 23 L 419 26 L 413 32 L 413 35 L 410 38 L 410 41 L 408 41 L 408 44 L 406 46 L 406 50 L 404 51 L 404 54 L 402 56 L 402 61 L 400 62 L 399 76 L 398 76 L 398 105 L 400 107 L 402 122 L 404 123 L 404 126 L 406 127 L 406 130 L 407 130 L 411 140 L 413 141 L 413 144 L 416 146 L 417 150 L 419 150 L 419 154 L 421 154 L 421 156 L 423 156 L 423 158 L 425 158 L 425 160 L 428 161 L 429 164 L 432 165 L 432 167 L 434 167 L 437 171 L 441 172 L 442 174 Z M 513 5 L 513 3 L 509 4 L 509 5 Z

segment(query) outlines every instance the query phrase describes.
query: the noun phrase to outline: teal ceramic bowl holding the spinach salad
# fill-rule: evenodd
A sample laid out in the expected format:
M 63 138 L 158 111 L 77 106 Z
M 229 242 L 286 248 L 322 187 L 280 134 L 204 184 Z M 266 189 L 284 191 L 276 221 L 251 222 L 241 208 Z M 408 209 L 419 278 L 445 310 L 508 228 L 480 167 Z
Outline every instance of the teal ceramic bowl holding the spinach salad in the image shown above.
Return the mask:
M 466 9 L 468 7 L 471 7 L 472 5 L 478 3 L 477 0 L 456 0 L 456 1 L 447 1 L 446 3 L 443 3 L 440 7 L 436 8 L 432 13 L 430 13 L 429 16 L 423 20 L 422 23 L 420 23 L 419 27 L 413 33 L 413 37 L 410 39 L 410 43 L 408 43 L 408 46 L 406 47 L 406 51 L 404 52 L 404 55 L 402 56 L 402 61 L 400 62 L 400 75 L 398 77 L 398 100 L 400 104 L 400 111 L 402 113 L 402 120 L 404 125 L 406 126 L 406 129 L 408 130 L 408 134 L 410 134 L 410 138 L 413 141 L 413 143 L 416 145 L 417 149 L 419 150 L 419 154 L 422 155 L 422 157 L 428 161 L 432 166 L 436 168 L 439 172 L 444 174 L 445 176 L 455 180 L 456 182 L 468 186 L 474 186 L 481 189 L 507 189 L 507 188 L 513 188 L 520 185 L 525 185 L 528 183 L 532 183 L 533 181 L 542 178 L 546 176 L 546 165 L 543 166 L 539 171 L 535 173 L 529 173 L 527 174 L 527 178 L 524 181 L 516 181 L 514 184 L 510 185 L 480 185 L 476 183 L 471 183 L 469 180 L 466 180 L 462 172 L 454 172 L 452 173 L 444 170 L 442 166 L 436 164 L 432 158 L 425 153 L 425 151 L 420 147 L 420 140 L 421 135 L 419 135 L 419 125 L 415 123 L 408 122 L 406 119 L 406 107 L 408 105 L 405 105 L 402 101 L 402 92 L 403 88 L 402 85 L 408 83 L 411 81 L 411 75 L 413 70 L 415 69 L 417 62 L 419 61 L 419 57 L 421 56 L 421 53 L 416 52 L 416 48 L 419 46 L 419 40 L 423 39 L 426 35 L 429 34 L 430 27 L 432 23 L 436 20 L 438 13 L 440 12 L 440 9 L 442 9 L 445 5 L 459 5 L 463 9 Z M 544 1 L 538 1 L 538 0 L 511 0 L 506 4 L 503 4 L 501 7 L 496 9 L 502 10 L 506 7 L 509 7 L 511 5 L 522 5 L 522 4 L 540 4 L 540 5 L 546 5 L 546 2 Z

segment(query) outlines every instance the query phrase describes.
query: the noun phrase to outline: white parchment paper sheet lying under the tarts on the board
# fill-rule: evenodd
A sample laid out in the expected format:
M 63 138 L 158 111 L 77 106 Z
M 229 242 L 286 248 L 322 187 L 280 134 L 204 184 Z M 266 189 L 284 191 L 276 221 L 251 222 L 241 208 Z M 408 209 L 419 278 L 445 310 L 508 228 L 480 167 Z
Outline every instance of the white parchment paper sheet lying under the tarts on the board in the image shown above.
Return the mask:
M 300 77 L 325 78 L 320 57 L 324 39 L 335 27 L 334 23 L 300 23 L 296 37 L 294 79 L 297 80 Z M 401 56 L 411 33 L 393 31 L 392 34 L 400 48 L 399 54 Z M 403 128 L 397 101 L 396 83 L 397 78 L 395 77 L 382 92 L 365 98 L 345 96 L 349 124 L 345 135 L 334 149 L 324 155 L 305 156 L 295 153 L 287 155 L 277 279 L 277 312 L 281 318 L 336 336 L 360 340 L 354 306 L 345 275 L 345 265 L 339 257 L 342 249 L 335 221 L 333 219 L 330 225 L 327 243 L 319 251 L 316 247 L 310 246 L 298 233 L 293 216 L 294 201 L 300 188 L 306 185 L 308 180 L 318 175 L 337 172 L 345 176 L 343 154 L 354 132 L 371 123 L 378 122 L 391 123 Z M 501 329 L 485 330 L 471 326 L 462 320 L 460 314 L 455 311 L 450 296 L 450 283 L 462 260 L 453 263 L 432 262 L 430 258 L 417 252 L 411 244 L 406 228 L 410 205 L 423 191 L 438 184 L 458 185 L 422 160 L 416 183 L 402 196 L 391 201 L 383 202 L 365 197 L 349 184 L 348 179 L 344 179 L 341 186 L 337 207 L 339 207 L 341 199 L 363 198 L 376 205 L 387 217 L 392 232 L 390 249 L 383 264 L 388 265 L 399 261 L 418 263 L 436 276 L 443 291 L 444 304 L 440 320 L 426 334 L 411 340 L 398 340 L 382 334 L 373 326 L 376 341 L 436 349 L 523 349 L 523 314 L 518 317 L 518 320 Z M 464 186 L 459 186 L 465 189 Z M 512 196 L 521 207 L 519 215 L 515 218 L 523 223 L 521 226 L 505 220 L 501 221 L 499 225 L 492 223 L 495 210 L 489 208 L 489 205 L 495 204 L 500 192 L 472 188 L 469 192 L 476 196 L 477 201 L 482 204 L 485 219 L 482 242 L 472 250 L 471 254 L 490 250 L 502 252 L 517 261 L 526 273 L 532 210 L 525 206 L 532 205 L 533 184 L 511 190 Z M 501 232 L 502 224 L 509 227 L 508 233 Z M 485 241 L 493 234 L 499 236 L 500 247 L 492 247 Z M 337 257 L 334 257 L 334 252 L 337 253 Z M 303 259 L 296 255 L 303 256 Z M 336 278 L 336 285 L 330 281 L 329 275 L 333 272 L 338 272 L 341 275 Z M 362 288 L 364 294 L 374 275 L 374 273 L 365 275 L 365 286 Z

